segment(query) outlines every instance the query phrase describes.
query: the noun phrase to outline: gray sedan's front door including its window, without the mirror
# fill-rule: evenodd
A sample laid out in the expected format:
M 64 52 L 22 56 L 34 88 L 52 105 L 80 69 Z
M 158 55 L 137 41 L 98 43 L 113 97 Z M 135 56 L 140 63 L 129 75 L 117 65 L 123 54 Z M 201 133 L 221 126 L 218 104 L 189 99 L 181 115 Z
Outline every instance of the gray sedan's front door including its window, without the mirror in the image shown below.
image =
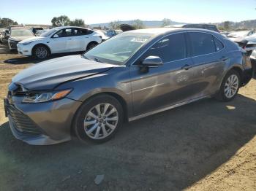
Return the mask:
M 141 71 L 140 63 L 150 55 L 164 63 L 157 68 Z M 178 104 L 195 94 L 192 59 L 187 58 L 185 33 L 172 34 L 154 44 L 130 66 L 134 114 L 139 115 Z

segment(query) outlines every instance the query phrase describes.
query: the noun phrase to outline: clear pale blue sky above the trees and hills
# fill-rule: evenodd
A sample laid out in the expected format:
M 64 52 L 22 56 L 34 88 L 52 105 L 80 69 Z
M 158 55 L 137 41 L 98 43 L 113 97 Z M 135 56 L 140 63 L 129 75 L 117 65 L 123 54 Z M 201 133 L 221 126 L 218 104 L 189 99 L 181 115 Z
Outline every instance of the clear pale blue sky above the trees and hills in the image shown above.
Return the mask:
M 23 24 L 50 24 L 53 17 L 82 18 L 86 24 L 113 20 L 170 20 L 219 23 L 256 19 L 256 0 L 6 0 L 0 17 Z

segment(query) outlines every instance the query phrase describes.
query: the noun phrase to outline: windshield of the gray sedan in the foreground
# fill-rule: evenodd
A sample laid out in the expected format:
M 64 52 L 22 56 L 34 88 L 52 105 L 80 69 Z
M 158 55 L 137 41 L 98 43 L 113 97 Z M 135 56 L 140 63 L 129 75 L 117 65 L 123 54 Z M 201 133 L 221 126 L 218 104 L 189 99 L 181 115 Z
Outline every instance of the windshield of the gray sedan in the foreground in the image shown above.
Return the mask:
M 83 56 L 94 61 L 124 65 L 124 63 L 145 44 L 153 34 L 124 33 L 108 39 Z

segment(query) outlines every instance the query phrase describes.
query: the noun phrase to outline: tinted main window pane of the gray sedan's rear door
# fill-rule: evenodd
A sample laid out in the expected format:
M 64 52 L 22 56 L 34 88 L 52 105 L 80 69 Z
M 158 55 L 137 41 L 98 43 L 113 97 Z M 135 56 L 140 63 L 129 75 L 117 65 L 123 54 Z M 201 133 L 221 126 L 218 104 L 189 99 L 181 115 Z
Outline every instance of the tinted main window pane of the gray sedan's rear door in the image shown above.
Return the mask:
M 215 52 L 214 36 L 200 32 L 189 33 L 192 56 L 206 55 Z

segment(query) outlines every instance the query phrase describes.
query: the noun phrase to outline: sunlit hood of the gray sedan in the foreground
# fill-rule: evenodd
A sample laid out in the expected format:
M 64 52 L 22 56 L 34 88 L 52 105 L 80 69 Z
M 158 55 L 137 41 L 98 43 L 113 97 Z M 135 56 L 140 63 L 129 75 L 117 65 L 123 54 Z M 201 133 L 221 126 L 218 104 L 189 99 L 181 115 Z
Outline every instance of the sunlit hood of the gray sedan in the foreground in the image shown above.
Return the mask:
M 61 83 L 89 77 L 112 69 L 115 65 L 98 63 L 69 55 L 37 63 L 12 78 L 12 82 L 28 90 L 53 90 Z

